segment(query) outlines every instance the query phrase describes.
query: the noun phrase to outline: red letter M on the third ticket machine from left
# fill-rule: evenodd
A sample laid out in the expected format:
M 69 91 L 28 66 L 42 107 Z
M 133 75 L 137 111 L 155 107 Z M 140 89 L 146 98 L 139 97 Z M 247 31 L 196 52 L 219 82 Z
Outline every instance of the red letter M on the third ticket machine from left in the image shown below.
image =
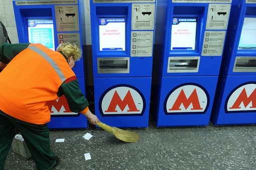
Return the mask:
M 170 108 L 169 110 L 181 110 L 180 106 L 181 103 L 183 103 L 184 107 L 187 109 L 188 106 L 192 103 L 193 108 L 191 108 L 191 110 L 202 110 L 203 108 L 201 108 L 199 100 L 198 100 L 198 96 L 196 93 L 196 89 L 193 90 L 193 92 L 191 93 L 191 95 L 187 98 L 183 89 L 181 90 L 179 96 L 177 97 L 176 101 L 173 104 L 173 107 Z

